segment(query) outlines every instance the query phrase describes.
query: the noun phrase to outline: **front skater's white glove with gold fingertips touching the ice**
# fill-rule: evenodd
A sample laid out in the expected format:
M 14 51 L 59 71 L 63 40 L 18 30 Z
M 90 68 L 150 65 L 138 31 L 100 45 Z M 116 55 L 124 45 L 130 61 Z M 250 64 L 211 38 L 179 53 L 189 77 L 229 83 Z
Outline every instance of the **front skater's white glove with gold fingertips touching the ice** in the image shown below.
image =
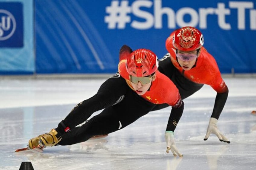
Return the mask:
M 166 152 L 169 153 L 169 150 L 173 153 L 174 156 L 177 156 L 177 154 L 182 157 L 183 155 L 178 150 L 175 142 L 174 142 L 174 132 L 173 131 L 165 131 L 165 141 L 167 145 Z

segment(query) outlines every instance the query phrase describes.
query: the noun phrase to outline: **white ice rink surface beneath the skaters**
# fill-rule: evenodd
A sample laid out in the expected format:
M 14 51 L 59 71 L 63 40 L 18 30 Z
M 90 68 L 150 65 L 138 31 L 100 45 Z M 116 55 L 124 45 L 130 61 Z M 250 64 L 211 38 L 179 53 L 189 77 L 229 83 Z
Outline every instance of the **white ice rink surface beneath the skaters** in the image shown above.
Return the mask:
M 205 85 L 184 100 L 184 113 L 174 136 L 182 158 L 166 153 L 164 133 L 171 107 L 150 112 L 104 139 L 49 147 L 43 153 L 14 152 L 26 147 L 30 138 L 56 128 L 77 103 L 93 96 L 104 80 L 82 76 L 1 77 L 0 169 L 17 170 L 27 161 L 35 170 L 256 169 L 256 116 L 251 114 L 256 110 L 254 75 L 224 77 L 229 97 L 218 128 L 230 144 L 220 142 L 213 134 L 203 140 L 216 96 Z

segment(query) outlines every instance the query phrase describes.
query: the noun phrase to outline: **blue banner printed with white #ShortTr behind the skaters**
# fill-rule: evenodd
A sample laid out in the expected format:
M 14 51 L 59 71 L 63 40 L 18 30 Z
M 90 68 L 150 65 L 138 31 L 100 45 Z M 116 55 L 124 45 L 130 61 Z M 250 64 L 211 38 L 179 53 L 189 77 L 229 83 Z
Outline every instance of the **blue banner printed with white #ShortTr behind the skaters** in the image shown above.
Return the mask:
M 162 58 L 170 33 L 193 26 L 222 73 L 255 73 L 256 2 L 196 1 L 35 0 L 36 71 L 114 73 L 123 44 Z

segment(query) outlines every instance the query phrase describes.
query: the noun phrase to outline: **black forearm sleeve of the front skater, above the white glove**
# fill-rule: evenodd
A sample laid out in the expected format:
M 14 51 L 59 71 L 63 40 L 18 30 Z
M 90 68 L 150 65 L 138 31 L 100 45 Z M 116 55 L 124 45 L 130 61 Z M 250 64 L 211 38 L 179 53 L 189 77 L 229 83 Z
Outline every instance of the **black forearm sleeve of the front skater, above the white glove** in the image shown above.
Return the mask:
M 181 101 L 181 105 L 179 107 L 172 107 L 171 108 L 171 114 L 168 120 L 168 124 L 166 127 L 166 131 L 173 131 L 175 130 L 176 126 L 178 125 L 178 122 L 182 116 L 184 110 L 184 102 Z

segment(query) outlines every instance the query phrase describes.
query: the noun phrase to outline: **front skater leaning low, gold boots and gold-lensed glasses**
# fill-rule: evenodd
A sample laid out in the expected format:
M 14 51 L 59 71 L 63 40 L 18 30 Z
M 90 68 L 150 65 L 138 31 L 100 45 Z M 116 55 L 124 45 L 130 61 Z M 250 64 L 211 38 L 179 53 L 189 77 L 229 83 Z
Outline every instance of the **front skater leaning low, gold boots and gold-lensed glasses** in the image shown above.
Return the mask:
M 157 56 L 148 49 L 120 49 L 119 73 L 107 79 L 96 95 L 76 105 L 58 127 L 28 142 L 28 147 L 72 145 L 95 135 L 109 134 L 123 129 L 146 115 L 157 104 L 172 106 L 165 131 L 167 145 L 174 156 L 182 157 L 174 142 L 173 131 L 183 113 L 184 102 L 174 83 L 160 73 Z M 104 109 L 81 127 L 94 112 Z

